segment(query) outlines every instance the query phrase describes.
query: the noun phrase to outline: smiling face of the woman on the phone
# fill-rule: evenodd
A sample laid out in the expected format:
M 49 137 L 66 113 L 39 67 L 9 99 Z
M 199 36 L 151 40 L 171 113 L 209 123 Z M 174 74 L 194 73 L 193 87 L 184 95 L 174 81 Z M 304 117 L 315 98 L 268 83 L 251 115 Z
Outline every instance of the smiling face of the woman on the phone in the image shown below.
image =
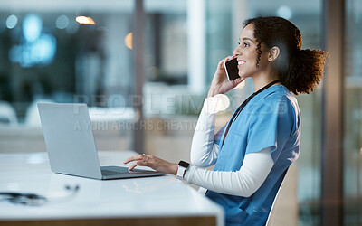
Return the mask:
M 248 24 L 243 28 L 240 35 L 239 45 L 233 51 L 233 55 L 237 57 L 239 76 L 242 78 L 252 77 L 256 72 L 262 71 L 267 62 L 267 50 L 262 44 L 262 54 L 260 56 L 259 67 L 256 66 L 258 57 L 258 42 L 254 38 L 254 26 Z

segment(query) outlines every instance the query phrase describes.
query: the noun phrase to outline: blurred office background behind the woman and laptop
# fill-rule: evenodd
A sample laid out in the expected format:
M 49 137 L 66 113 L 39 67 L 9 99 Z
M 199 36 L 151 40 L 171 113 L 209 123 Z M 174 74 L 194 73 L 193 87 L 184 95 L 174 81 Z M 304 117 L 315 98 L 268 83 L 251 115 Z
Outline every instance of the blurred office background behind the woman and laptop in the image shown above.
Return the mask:
M 99 150 L 141 143 L 140 152 L 171 162 L 189 160 L 216 64 L 233 54 L 243 20 L 282 16 L 300 28 L 303 49 L 322 49 L 323 12 L 322 0 L 144 0 L 143 9 L 133 0 L 0 0 L 0 152 L 46 151 L 36 103 L 50 101 L 88 104 Z M 145 16 L 139 62 L 134 60 L 136 14 Z M 343 224 L 360 225 L 362 1 L 346 0 L 345 15 Z M 79 16 L 89 21 L 77 22 Z M 143 71 L 143 98 L 135 88 L 137 68 Z M 294 198 L 281 207 L 289 210 L 284 222 L 294 225 L 322 221 L 323 89 L 321 84 L 297 97 L 300 159 L 286 185 Z M 219 114 L 217 127 L 252 91 L 252 80 L 246 80 L 228 94 L 231 106 Z M 142 140 L 135 130 L 141 130 Z

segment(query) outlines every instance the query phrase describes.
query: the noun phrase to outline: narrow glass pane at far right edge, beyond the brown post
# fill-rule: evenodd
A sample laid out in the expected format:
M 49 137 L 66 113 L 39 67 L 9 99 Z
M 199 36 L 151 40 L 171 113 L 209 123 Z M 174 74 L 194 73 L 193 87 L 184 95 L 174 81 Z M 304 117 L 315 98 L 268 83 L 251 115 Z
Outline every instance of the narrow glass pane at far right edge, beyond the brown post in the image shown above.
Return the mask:
M 346 1 L 344 225 L 362 224 L 362 2 Z

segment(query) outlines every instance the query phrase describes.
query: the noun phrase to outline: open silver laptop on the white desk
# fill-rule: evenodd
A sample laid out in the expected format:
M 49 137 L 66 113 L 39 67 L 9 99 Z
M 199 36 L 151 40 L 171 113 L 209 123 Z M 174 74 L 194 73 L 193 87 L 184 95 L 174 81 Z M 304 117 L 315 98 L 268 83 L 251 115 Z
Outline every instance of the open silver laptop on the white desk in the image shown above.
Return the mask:
M 100 166 L 86 104 L 39 103 L 38 109 L 52 172 L 101 180 L 164 174 Z

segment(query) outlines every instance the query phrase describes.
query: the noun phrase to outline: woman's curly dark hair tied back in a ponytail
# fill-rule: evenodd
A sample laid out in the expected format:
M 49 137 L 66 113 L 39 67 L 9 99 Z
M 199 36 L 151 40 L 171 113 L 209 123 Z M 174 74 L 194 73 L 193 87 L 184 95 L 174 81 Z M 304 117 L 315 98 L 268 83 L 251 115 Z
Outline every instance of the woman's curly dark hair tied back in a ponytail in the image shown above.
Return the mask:
M 281 83 L 294 94 L 310 93 L 323 78 L 328 52 L 321 50 L 301 50 L 300 30 L 290 21 L 277 16 L 256 17 L 246 20 L 254 26 L 257 44 L 256 67 L 262 55 L 262 43 L 268 49 L 279 47 L 280 55 L 275 67 Z

